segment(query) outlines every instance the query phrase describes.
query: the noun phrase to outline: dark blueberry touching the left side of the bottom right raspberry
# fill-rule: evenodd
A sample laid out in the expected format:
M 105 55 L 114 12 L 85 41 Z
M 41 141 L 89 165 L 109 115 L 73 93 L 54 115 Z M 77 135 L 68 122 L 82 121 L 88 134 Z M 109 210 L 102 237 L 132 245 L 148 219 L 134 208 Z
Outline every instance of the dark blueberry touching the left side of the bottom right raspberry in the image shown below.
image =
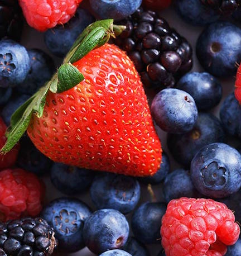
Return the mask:
M 166 203 L 143 203 L 132 216 L 132 231 L 136 239 L 144 244 L 160 243 L 162 216 Z

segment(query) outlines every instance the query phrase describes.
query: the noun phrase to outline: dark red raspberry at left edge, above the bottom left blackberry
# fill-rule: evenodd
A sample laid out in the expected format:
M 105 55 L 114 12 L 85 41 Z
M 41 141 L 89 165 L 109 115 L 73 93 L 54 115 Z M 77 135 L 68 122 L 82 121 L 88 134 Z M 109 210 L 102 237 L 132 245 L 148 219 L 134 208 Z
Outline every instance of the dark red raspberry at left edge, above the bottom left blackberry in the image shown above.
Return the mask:
M 35 174 L 22 169 L 0 172 L 0 220 L 36 216 L 42 210 L 44 184 Z

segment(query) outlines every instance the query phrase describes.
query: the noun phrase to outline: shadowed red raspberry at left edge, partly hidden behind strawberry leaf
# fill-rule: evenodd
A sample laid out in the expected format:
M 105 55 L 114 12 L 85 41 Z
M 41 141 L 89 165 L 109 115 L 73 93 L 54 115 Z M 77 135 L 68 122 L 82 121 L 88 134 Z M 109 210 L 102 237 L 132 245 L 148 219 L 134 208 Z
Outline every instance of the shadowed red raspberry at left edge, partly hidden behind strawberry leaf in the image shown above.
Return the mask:
M 0 117 L 0 148 L 6 143 L 6 132 L 7 126 L 4 124 L 4 121 Z M 11 151 L 5 155 L 0 155 L 0 170 L 12 167 L 17 160 L 18 150 L 20 145 L 17 144 Z

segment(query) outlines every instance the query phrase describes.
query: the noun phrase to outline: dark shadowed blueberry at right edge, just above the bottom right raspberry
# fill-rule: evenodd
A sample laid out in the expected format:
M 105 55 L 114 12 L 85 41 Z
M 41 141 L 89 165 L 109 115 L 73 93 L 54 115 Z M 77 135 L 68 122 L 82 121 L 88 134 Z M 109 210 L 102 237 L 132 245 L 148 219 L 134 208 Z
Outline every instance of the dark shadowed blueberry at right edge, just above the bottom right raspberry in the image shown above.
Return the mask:
M 235 220 L 241 222 L 241 190 L 229 197 L 221 198 L 219 201 L 225 203 L 234 212 Z M 241 255 L 241 254 L 240 254 Z

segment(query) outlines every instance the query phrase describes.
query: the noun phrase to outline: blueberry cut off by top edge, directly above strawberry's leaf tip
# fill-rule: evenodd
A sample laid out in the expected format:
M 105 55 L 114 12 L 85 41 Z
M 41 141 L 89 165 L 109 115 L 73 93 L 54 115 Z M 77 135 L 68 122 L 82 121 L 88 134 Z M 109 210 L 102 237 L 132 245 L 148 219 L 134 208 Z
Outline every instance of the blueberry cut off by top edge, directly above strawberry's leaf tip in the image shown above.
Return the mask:
M 97 15 L 102 18 L 114 18 L 122 20 L 134 13 L 142 0 L 90 0 L 90 6 Z

